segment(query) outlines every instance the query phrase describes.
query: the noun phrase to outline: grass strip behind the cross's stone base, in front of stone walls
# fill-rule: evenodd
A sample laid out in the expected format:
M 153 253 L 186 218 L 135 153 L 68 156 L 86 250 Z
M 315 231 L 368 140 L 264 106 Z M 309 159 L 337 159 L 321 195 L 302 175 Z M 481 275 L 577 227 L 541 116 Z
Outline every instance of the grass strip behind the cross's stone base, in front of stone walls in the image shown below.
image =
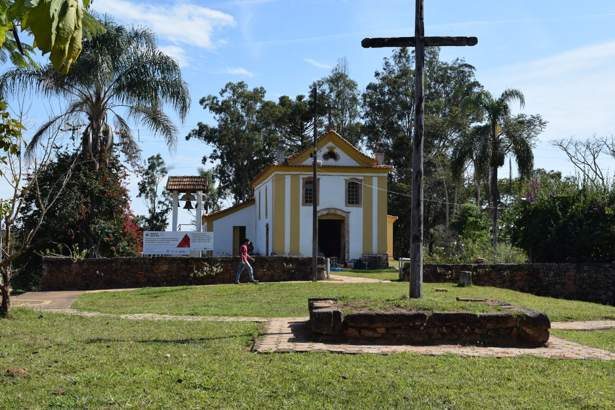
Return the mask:
M 436 293 L 435 288 L 447 288 L 448 292 Z M 178 286 L 84 293 L 72 307 L 106 313 L 293 317 L 308 315 L 308 298 L 392 299 L 404 294 L 408 294 L 407 282 Z M 424 295 L 427 298 L 442 298 L 443 303 L 453 303 L 456 296 L 496 299 L 541 310 L 552 321 L 615 319 L 613 306 L 546 298 L 490 286 L 459 288 L 453 283 L 425 283 Z

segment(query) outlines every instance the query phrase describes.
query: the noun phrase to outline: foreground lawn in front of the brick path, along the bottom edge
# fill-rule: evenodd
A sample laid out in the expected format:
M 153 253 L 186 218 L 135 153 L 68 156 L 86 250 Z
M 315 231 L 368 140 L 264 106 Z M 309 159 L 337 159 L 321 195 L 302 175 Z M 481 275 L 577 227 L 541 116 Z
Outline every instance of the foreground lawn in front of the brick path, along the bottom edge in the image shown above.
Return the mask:
M 38 315 L 0 319 L 0 368 L 30 371 L 7 377 L 2 409 L 615 408 L 608 362 L 259 355 L 254 323 Z

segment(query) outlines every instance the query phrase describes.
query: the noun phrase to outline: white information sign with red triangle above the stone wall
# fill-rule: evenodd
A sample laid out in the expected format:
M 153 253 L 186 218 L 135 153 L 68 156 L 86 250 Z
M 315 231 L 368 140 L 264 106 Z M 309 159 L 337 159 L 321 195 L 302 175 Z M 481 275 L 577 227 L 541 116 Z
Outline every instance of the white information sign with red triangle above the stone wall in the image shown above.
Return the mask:
M 187 255 L 191 250 L 212 251 L 213 232 L 143 232 L 143 254 Z

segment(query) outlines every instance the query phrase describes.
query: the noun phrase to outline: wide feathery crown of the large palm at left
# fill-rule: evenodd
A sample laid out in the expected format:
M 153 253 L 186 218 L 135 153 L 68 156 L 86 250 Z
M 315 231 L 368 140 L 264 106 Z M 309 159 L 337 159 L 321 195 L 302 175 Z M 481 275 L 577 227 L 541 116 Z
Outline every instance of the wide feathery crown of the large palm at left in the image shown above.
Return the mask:
M 177 61 L 158 49 L 149 28 L 126 28 L 108 17 L 100 24 L 104 33 L 82 40 L 81 54 L 68 73 L 58 73 L 49 64 L 41 71 L 17 68 L 0 76 L 0 97 L 31 90 L 66 101 L 66 109 L 38 129 L 28 148 L 54 124 L 81 125 L 82 152 L 91 157 L 95 170 L 113 148 L 114 135 L 127 160 L 136 165 L 140 151 L 129 126 L 132 120 L 162 135 L 173 152 L 178 129 L 163 108 L 170 106 L 182 122 L 190 108 L 188 84 Z

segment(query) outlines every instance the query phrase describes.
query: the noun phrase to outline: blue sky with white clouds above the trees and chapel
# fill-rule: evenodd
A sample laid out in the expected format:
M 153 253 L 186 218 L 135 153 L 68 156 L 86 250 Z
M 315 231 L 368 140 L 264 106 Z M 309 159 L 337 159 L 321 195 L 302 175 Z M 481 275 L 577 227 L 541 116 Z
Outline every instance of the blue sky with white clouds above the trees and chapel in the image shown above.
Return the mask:
M 413 1 L 95 0 L 93 7 L 118 22 L 150 26 L 162 49 L 183 67 L 192 109 L 185 124 L 178 124 L 183 128 L 177 154 L 140 130 L 143 158 L 160 152 L 176 165 L 173 175 L 194 175 L 210 151 L 184 136 L 198 121 L 212 122 L 199 98 L 220 92 L 226 82 L 262 86 L 270 99 L 294 97 L 346 57 L 363 89 L 391 50 L 363 49 L 360 41 L 414 34 Z M 536 167 L 571 173 L 572 165 L 549 140 L 615 132 L 612 0 L 425 0 L 425 25 L 427 36 L 478 37 L 474 47 L 445 47 L 442 57 L 465 58 L 493 93 L 522 90 L 524 112 L 549 121 L 534 151 Z M 603 164 L 615 170 L 615 161 L 605 158 Z M 131 188 L 136 181 L 132 178 Z M 133 209 L 145 213 L 138 199 Z

